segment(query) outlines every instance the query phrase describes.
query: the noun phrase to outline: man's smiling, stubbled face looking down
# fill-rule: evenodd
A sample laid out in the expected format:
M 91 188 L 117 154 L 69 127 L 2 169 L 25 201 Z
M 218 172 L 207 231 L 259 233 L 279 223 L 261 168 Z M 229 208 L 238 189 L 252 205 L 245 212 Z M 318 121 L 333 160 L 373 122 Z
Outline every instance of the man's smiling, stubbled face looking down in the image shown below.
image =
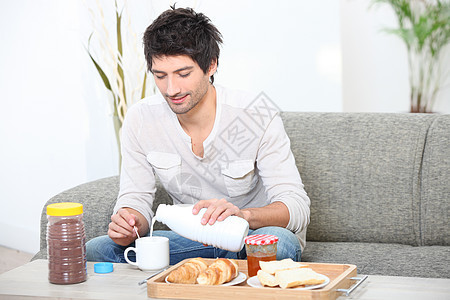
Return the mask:
M 153 58 L 156 86 L 176 114 L 185 114 L 200 103 L 208 91 L 211 72 L 203 73 L 187 55 Z

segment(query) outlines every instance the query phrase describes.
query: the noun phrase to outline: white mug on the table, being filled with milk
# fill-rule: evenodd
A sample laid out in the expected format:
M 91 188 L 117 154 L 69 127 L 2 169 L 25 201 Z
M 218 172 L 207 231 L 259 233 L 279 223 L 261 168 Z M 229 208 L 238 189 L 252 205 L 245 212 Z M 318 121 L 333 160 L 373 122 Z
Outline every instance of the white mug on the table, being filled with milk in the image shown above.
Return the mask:
M 163 236 L 146 236 L 135 241 L 136 247 L 125 249 L 127 263 L 137 266 L 142 271 L 158 271 L 169 266 L 169 239 Z M 128 259 L 128 252 L 136 253 L 136 262 Z

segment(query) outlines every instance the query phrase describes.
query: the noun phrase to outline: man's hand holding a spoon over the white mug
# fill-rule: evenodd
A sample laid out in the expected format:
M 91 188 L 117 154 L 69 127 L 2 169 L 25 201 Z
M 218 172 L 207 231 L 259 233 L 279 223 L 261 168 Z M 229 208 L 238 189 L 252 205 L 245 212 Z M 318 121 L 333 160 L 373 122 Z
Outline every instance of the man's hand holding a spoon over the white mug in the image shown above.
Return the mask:
M 134 226 L 140 235 L 148 231 L 147 220 L 137 211 L 131 208 L 121 208 L 115 215 L 111 216 L 108 235 L 118 245 L 128 246 L 137 237 Z

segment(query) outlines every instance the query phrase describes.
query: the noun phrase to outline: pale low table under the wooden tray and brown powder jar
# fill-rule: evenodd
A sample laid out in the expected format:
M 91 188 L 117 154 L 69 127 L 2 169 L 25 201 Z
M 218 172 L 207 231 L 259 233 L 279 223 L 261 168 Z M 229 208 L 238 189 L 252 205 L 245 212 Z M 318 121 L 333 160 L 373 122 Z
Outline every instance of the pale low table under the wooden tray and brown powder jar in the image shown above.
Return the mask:
M 0 299 L 148 299 L 147 285 L 138 282 L 150 276 L 128 264 L 114 264 L 114 272 L 94 273 L 88 262 L 88 280 L 72 285 L 48 282 L 47 260 L 35 260 L 0 274 Z M 450 279 L 370 275 L 344 299 L 450 299 Z

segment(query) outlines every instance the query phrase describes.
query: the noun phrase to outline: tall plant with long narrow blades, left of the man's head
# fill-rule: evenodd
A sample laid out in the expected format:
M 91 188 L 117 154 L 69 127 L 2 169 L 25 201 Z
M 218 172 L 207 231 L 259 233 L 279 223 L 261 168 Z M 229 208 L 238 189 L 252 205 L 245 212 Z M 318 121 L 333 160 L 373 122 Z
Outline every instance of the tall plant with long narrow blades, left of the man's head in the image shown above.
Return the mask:
M 126 5 L 126 1 L 124 1 Z M 138 47 L 137 40 L 130 22 L 123 30 L 123 11 L 115 1 L 115 28 L 110 34 L 106 26 L 104 11 L 99 2 L 97 9 L 89 8 L 94 25 L 94 31 L 88 39 L 87 52 L 97 70 L 105 88 L 112 94 L 112 120 L 119 153 L 119 169 L 121 164 L 120 131 L 127 109 L 138 100 L 155 93 L 155 85 L 147 77 L 143 49 Z M 95 39 L 94 49 L 102 55 L 96 55 L 91 47 Z M 150 88 L 149 88 L 150 86 Z

